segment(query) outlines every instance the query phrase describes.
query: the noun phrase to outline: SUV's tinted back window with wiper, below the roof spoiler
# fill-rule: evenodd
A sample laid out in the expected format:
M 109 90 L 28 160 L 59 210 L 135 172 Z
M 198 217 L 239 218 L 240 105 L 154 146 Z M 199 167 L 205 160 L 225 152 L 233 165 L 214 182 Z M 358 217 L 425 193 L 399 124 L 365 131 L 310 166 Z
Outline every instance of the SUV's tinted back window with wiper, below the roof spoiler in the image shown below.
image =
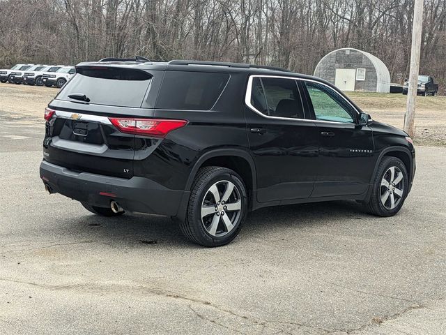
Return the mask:
M 128 68 L 77 68 L 57 99 L 79 102 L 68 96 L 85 94 L 97 105 L 141 107 L 151 78 L 149 73 Z

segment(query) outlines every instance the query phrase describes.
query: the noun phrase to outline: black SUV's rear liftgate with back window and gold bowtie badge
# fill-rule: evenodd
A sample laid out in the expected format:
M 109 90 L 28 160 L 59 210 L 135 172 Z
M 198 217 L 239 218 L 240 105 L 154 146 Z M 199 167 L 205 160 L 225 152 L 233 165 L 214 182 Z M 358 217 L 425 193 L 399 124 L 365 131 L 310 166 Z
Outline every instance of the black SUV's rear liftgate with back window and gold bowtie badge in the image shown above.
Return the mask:
M 78 66 L 46 111 L 45 161 L 74 172 L 132 177 L 135 135 L 119 131 L 112 122 L 153 116 L 155 77 L 162 73 L 129 66 Z M 147 138 L 138 149 L 156 144 L 157 139 Z

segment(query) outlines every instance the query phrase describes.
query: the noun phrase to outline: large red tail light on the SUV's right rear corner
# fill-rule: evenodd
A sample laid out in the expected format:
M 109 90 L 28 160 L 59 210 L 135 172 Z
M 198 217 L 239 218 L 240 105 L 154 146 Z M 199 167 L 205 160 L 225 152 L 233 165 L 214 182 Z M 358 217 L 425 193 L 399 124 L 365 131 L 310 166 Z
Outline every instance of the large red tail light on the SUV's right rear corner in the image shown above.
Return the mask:
M 120 117 L 109 117 L 109 120 L 121 133 L 156 137 L 164 137 L 171 131 L 184 127 L 187 124 L 185 120 L 130 119 Z

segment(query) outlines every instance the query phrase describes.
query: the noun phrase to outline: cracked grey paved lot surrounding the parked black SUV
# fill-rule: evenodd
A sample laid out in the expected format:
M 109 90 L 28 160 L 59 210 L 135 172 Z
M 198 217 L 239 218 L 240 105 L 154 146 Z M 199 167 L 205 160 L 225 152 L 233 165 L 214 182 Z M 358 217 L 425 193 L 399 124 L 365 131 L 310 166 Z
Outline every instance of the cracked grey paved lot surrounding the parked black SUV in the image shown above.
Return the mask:
M 0 334 L 446 334 L 446 148 L 417 147 L 397 216 L 272 207 L 201 248 L 170 218 L 100 218 L 45 193 L 55 94 L 0 84 Z

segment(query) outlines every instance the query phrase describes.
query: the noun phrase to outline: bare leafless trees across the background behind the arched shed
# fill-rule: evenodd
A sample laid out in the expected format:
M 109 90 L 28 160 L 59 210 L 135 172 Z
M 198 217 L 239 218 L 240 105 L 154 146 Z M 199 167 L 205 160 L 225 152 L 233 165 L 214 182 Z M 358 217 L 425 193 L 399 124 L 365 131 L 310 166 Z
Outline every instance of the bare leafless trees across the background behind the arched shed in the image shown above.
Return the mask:
M 413 0 L 0 0 L 0 67 L 141 55 L 312 74 L 339 47 L 408 75 Z M 446 84 L 446 0 L 424 1 L 420 71 Z

